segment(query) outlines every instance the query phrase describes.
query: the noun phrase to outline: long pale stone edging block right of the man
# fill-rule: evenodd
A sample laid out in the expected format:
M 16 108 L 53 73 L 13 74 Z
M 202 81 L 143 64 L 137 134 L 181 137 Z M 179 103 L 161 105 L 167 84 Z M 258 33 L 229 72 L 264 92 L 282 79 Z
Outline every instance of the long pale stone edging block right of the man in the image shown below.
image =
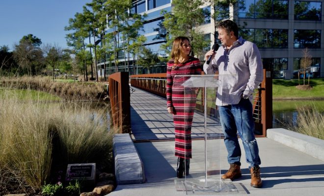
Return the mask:
M 324 140 L 284 128 L 268 129 L 267 138 L 324 161 Z

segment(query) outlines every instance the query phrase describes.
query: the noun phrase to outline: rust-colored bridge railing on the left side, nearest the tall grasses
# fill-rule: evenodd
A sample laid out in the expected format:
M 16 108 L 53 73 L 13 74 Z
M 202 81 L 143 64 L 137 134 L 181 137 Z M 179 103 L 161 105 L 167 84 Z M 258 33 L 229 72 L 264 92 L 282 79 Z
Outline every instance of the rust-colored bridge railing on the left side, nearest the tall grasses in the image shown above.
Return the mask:
M 108 81 L 113 125 L 118 133 L 130 133 L 131 100 L 128 72 L 113 73 Z

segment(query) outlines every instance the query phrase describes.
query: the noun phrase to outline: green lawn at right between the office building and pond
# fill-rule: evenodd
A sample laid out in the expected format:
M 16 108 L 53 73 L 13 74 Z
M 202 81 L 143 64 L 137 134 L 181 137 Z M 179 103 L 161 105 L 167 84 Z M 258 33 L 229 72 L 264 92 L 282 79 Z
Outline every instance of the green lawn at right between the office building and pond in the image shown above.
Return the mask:
M 302 84 L 302 79 L 300 83 Z M 308 83 L 308 80 L 305 81 Z M 298 79 L 284 80 L 273 79 L 272 80 L 272 97 L 273 98 L 324 98 L 324 78 L 310 79 L 311 90 L 298 90 Z

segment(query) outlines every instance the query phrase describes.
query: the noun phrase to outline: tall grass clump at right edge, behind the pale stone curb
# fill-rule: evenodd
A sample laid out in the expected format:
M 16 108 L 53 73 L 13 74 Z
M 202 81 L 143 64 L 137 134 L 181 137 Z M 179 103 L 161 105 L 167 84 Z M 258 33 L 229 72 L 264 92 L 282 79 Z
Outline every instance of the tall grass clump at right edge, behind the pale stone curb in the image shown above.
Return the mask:
M 296 131 L 324 140 L 324 115 L 315 106 L 298 108 Z

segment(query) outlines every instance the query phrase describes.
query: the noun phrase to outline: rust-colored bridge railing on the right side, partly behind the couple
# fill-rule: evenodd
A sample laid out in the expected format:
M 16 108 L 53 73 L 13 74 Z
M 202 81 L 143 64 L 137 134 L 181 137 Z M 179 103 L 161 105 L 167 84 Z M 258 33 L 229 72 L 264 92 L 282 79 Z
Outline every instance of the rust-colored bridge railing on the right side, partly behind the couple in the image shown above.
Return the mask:
M 256 89 L 253 100 L 253 118 L 255 122 L 255 134 L 259 137 L 267 135 L 267 129 L 272 128 L 272 79 L 271 71 L 264 69 L 264 78 L 258 89 Z M 156 74 L 139 74 L 130 76 L 131 85 L 159 95 L 166 97 L 166 73 Z M 201 100 L 196 104 L 196 109 L 204 108 L 203 90 L 200 91 Z M 215 111 L 215 108 L 207 108 Z

